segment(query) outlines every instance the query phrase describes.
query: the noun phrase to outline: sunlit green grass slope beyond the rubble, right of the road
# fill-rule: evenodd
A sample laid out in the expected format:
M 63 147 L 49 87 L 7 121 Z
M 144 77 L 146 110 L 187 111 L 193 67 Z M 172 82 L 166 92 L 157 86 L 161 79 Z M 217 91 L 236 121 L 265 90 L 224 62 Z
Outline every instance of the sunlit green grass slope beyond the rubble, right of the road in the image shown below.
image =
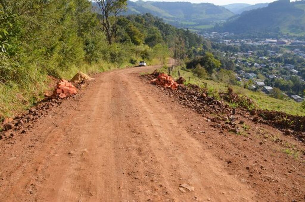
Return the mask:
M 174 78 L 178 78 L 177 70 L 174 71 Z M 221 82 L 215 82 L 212 80 L 201 79 L 192 74 L 192 72 L 180 70 L 180 75 L 186 79 L 190 79 L 189 83 L 204 86 L 204 82 L 207 83 L 207 88 L 214 92 L 227 92 L 228 85 Z M 260 109 L 282 111 L 287 114 L 305 116 L 305 110 L 301 108 L 301 103 L 296 103 L 292 99 L 280 100 L 267 96 L 263 92 L 253 92 L 248 89 L 239 86 L 230 86 L 234 89 L 234 92 L 240 96 L 248 96 L 251 98 Z

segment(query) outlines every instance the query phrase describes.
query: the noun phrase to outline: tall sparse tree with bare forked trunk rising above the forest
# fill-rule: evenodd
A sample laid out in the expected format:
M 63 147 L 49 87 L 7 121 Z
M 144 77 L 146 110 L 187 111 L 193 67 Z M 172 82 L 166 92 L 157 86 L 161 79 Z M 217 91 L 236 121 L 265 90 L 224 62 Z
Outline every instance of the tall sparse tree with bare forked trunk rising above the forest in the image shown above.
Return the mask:
M 102 30 L 109 45 L 117 33 L 117 16 L 127 9 L 127 0 L 94 0 L 101 12 Z

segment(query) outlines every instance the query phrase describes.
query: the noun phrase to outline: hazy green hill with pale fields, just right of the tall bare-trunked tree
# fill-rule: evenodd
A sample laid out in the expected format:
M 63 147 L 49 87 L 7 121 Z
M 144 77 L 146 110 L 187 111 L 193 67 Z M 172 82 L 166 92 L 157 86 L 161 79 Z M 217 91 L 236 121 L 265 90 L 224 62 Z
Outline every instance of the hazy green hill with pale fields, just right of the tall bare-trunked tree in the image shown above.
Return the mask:
M 210 20 L 226 20 L 234 13 L 210 3 L 127 1 L 126 14 L 151 13 L 167 22 L 181 21 L 201 23 Z

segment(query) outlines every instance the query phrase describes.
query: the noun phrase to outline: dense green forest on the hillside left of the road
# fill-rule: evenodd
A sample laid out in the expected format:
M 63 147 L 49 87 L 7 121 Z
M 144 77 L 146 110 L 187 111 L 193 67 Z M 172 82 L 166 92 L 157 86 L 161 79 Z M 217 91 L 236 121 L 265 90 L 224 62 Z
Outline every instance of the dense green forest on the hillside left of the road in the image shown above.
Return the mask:
M 126 1 L 121 6 L 124 10 Z M 77 71 L 135 66 L 140 60 L 165 63 L 169 56 L 183 60 L 210 47 L 150 14 L 110 13 L 109 41 L 96 9 L 88 0 L 0 1 L 0 113 L 35 103 L 50 76 L 69 79 Z

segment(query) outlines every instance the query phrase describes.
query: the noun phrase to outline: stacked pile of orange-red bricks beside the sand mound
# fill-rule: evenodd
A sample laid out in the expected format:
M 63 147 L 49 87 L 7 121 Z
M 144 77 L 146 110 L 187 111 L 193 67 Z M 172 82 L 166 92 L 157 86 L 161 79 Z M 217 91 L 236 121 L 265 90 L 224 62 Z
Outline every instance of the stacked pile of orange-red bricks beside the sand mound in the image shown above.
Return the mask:
M 72 85 L 71 82 L 66 80 L 61 80 L 55 86 L 55 90 L 53 91 L 53 96 L 59 97 L 61 99 L 74 95 L 77 93 L 77 88 Z

